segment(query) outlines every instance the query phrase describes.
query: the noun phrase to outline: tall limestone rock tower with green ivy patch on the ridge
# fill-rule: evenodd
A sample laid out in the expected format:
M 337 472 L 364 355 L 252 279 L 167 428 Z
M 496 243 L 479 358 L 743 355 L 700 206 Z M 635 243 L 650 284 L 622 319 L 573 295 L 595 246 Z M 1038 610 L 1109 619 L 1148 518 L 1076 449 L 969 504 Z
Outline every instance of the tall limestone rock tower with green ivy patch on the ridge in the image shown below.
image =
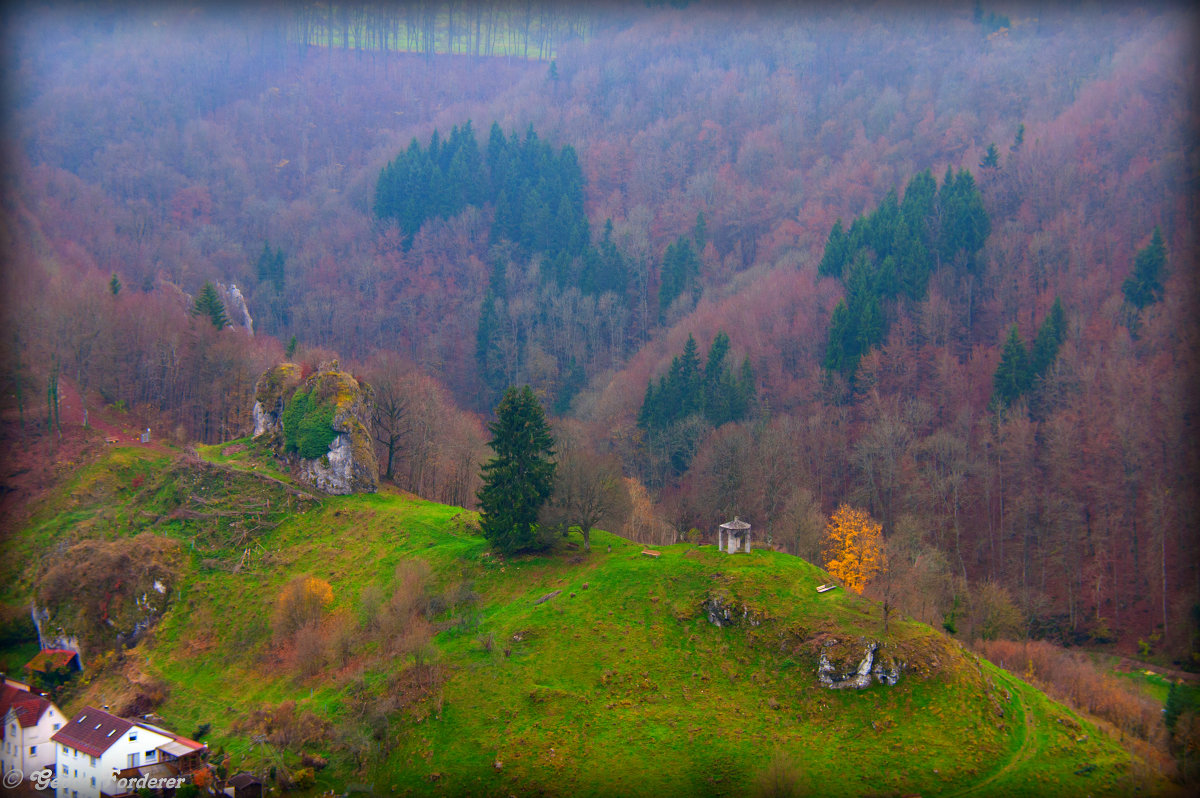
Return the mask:
M 378 490 L 371 388 L 336 360 L 305 380 L 295 364 L 270 368 L 258 379 L 254 400 L 254 439 L 271 446 L 304 481 L 336 494 Z

